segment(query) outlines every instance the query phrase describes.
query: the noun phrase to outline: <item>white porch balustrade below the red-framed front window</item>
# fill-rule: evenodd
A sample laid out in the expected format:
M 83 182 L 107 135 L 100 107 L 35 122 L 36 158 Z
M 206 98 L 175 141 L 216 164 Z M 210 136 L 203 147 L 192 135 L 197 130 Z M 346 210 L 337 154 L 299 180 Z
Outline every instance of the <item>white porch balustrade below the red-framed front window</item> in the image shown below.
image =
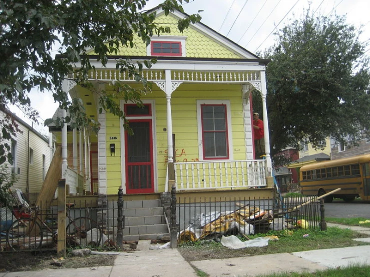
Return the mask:
M 265 160 L 175 162 L 177 189 L 266 186 Z

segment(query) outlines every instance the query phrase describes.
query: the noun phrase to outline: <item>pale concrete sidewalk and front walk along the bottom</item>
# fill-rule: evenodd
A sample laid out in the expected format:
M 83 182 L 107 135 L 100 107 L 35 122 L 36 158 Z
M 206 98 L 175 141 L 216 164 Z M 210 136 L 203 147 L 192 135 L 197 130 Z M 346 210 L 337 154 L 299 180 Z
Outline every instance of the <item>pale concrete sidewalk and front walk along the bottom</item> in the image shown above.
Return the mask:
M 332 224 L 329 224 L 332 226 Z M 349 226 L 339 226 L 348 228 Z M 350 227 L 352 228 L 352 227 Z M 370 228 L 353 227 L 370 234 Z M 369 238 L 357 239 L 370 242 Z M 255 276 L 272 272 L 312 272 L 351 264 L 370 265 L 370 245 L 311 251 L 244 256 L 187 262 L 177 249 L 159 249 L 121 253 L 114 266 L 42 271 L 2 272 L 0 277 L 192 277 L 194 268 L 210 277 Z

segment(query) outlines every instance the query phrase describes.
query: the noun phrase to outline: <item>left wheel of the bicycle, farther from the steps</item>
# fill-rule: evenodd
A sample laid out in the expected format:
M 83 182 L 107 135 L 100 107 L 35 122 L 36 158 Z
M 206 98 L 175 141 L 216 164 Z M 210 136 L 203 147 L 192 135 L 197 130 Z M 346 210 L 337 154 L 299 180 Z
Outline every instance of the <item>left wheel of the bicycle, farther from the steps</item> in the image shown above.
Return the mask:
M 7 242 L 12 250 L 38 249 L 43 241 L 40 224 L 30 218 L 13 221 L 7 232 Z

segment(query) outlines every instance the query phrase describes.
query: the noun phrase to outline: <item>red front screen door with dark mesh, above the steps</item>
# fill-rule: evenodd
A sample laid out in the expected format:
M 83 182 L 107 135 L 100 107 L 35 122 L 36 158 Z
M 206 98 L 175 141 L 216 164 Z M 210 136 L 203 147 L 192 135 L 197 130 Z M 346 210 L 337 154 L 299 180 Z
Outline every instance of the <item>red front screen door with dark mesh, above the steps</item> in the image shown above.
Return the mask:
M 126 193 L 154 192 L 152 119 L 130 119 L 125 131 Z

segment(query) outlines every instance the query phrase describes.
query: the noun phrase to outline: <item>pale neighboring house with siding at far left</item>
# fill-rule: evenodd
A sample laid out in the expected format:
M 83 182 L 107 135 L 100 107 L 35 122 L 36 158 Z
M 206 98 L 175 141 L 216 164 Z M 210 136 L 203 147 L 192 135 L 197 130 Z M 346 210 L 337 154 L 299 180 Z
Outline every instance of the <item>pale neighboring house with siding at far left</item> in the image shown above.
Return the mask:
M 14 188 L 24 193 L 38 193 L 51 162 L 49 139 L 9 110 L 0 110 L 0 119 L 4 119 L 7 114 L 14 118 L 23 131 L 17 132 L 17 136 L 9 141 L 13 163 L 10 164 L 8 160 L 6 163 L 9 173 L 18 178 Z

